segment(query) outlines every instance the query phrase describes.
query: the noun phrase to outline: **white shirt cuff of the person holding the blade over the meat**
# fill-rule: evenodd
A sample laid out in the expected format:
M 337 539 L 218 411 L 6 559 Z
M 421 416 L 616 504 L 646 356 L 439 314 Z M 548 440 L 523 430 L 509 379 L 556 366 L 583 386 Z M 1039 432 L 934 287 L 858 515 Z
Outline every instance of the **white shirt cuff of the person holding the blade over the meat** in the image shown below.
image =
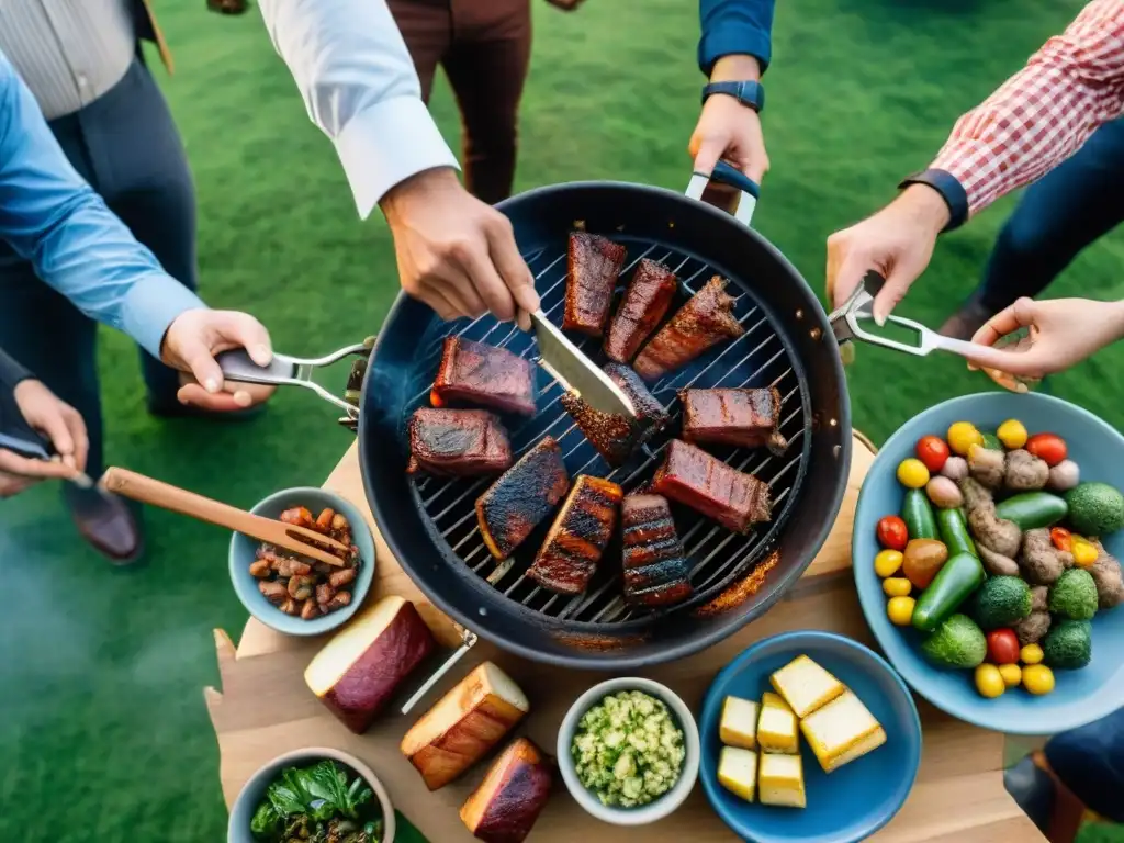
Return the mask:
M 411 175 L 438 166 L 460 169 L 425 103 L 415 97 L 396 97 L 361 111 L 335 143 L 361 219 Z

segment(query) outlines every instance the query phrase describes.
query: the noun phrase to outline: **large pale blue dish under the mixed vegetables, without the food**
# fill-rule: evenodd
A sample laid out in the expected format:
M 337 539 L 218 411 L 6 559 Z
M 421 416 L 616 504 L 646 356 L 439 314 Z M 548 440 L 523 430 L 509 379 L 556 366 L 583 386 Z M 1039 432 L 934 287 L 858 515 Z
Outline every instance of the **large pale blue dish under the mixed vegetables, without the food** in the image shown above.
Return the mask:
M 1013 688 L 997 699 L 985 699 L 968 670 L 939 670 L 922 655 L 921 635 L 894 626 L 886 617 L 886 596 L 874 573 L 879 551 L 874 527 L 883 515 L 901 508 L 904 490 L 898 463 L 914 455 L 922 436 L 944 436 L 953 422 L 971 422 L 995 430 L 1008 418 L 1022 422 L 1033 435 L 1055 433 L 1081 470 L 1081 480 L 1100 480 L 1124 489 L 1124 437 L 1080 407 L 1036 393 L 984 392 L 953 398 L 903 425 L 871 465 L 855 513 L 851 550 L 859 600 L 886 658 L 903 678 L 937 708 L 984 728 L 1021 735 L 1050 735 L 1091 723 L 1124 701 L 1124 608 L 1097 613 L 1093 619 L 1093 661 L 1081 670 L 1057 671 L 1052 694 L 1033 697 Z M 1111 535 L 1105 549 L 1124 554 L 1124 532 Z

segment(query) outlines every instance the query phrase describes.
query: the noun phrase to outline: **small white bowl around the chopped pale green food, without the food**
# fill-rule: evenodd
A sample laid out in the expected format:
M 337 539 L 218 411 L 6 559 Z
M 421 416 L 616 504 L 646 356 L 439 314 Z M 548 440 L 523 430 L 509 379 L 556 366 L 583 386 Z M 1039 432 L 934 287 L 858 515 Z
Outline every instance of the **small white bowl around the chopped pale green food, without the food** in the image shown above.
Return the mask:
M 687 750 L 683 769 L 680 771 L 679 780 L 674 787 L 655 801 L 636 808 L 616 808 L 602 805 L 601 800 L 578 780 L 578 771 L 574 769 L 573 755 L 570 752 L 578 720 L 605 697 L 618 691 L 643 691 L 662 700 L 683 731 L 683 746 Z M 559 728 L 558 761 L 566 789 L 587 813 L 613 825 L 646 825 L 674 812 L 683 804 L 683 800 L 690 795 L 691 788 L 695 787 L 695 780 L 698 779 L 699 774 L 700 754 L 699 727 L 695 723 L 691 709 L 679 698 L 679 695 L 651 679 L 623 677 L 595 685 L 570 706 L 570 710 L 566 711 L 562 726 Z

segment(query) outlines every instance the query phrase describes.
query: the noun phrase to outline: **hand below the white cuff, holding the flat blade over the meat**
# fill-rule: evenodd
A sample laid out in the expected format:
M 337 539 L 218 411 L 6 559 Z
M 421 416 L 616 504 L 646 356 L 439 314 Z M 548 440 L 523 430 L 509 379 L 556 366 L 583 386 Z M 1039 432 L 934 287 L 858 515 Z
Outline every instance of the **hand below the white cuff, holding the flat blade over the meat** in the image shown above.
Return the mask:
M 519 318 L 538 309 L 531 270 L 519 255 L 511 223 L 475 199 L 442 167 L 410 176 L 383 197 L 382 211 L 395 236 L 402 289 L 442 319 Z

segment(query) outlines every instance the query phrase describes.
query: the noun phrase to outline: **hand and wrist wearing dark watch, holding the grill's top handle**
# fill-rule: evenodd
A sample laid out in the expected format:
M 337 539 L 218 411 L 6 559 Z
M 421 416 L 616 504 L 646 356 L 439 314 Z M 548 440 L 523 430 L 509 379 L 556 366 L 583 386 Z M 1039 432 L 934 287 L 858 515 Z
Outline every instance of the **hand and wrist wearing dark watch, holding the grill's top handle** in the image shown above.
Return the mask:
M 761 65 L 753 56 L 728 55 L 715 63 L 710 81 L 744 82 L 760 75 Z M 722 158 L 755 182 L 769 170 L 758 112 L 723 93 L 707 98 L 687 148 L 698 173 L 710 173 Z

